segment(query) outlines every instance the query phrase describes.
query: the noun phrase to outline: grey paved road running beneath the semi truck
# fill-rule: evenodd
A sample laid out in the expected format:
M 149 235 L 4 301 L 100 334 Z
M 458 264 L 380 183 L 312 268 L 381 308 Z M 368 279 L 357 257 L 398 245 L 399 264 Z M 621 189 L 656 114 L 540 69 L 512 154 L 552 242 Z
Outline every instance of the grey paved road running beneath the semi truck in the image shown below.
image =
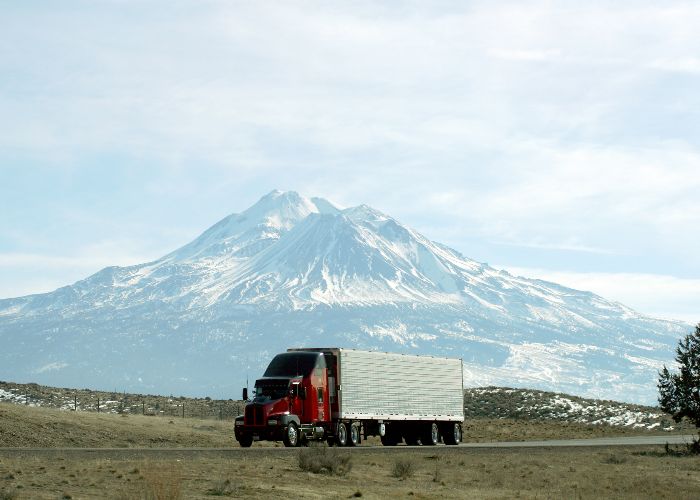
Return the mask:
M 469 448 L 563 448 L 563 447 L 608 447 L 649 446 L 668 443 L 684 444 L 692 441 L 692 435 L 670 434 L 665 436 L 632 436 L 592 439 L 557 439 L 549 441 L 501 441 L 491 443 L 461 443 L 459 446 L 359 446 L 345 448 L 355 453 L 390 453 L 393 450 L 421 449 L 435 452 L 450 452 Z M 0 456 L 55 456 L 79 455 L 84 457 L 185 457 L 185 456 L 240 456 L 246 453 L 291 453 L 294 448 L 255 446 L 252 448 L 0 448 Z

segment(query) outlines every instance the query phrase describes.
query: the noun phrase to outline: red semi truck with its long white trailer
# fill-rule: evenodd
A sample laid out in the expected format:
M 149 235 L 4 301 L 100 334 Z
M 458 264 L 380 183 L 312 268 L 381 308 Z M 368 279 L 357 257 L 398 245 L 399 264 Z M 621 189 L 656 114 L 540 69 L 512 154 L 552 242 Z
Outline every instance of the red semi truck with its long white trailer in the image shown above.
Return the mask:
M 295 348 L 277 354 L 243 389 L 234 433 L 254 441 L 357 446 L 456 445 L 464 422 L 462 360 L 345 348 Z

